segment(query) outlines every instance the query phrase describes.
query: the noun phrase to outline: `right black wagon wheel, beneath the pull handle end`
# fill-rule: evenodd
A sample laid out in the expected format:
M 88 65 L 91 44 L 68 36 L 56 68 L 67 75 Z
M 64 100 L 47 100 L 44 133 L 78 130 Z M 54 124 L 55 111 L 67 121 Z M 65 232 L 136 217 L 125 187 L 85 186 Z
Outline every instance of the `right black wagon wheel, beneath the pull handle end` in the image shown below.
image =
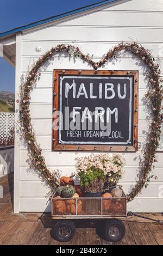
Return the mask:
M 122 240 L 126 233 L 126 228 L 120 220 L 109 220 L 105 223 L 105 239 L 110 242 Z

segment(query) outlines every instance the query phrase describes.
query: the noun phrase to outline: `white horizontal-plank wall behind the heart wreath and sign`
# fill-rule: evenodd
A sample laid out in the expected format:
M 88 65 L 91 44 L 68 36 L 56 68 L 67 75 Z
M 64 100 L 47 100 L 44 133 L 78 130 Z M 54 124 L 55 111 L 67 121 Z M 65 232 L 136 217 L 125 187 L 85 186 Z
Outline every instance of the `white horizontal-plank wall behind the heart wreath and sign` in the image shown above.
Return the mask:
M 93 59 L 99 60 L 109 48 L 121 41 L 139 41 L 146 48 L 152 49 L 154 57 L 163 58 L 163 2 L 162 0 L 131 0 L 108 9 L 76 19 L 62 22 L 55 26 L 39 29 L 24 35 L 17 35 L 17 67 L 16 87 L 18 92 L 19 77 L 26 74 L 28 65 L 33 64 L 39 56 L 58 44 L 78 45 L 83 52 L 93 54 Z M 35 48 L 40 46 L 41 53 Z M 21 60 L 21 62 L 20 62 Z M 76 62 L 69 60 L 64 54 L 55 56 L 47 63 L 41 72 L 41 78 L 32 92 L 30 111 L 37 141 L 43 149 L 46 164 L 50 169 L 59 169 L 62 174 L 70 174 L 75 170 L 74 158 L 90 153 L 68 153 L 52 151 L 52 72 L 53 69 L 91 69 L 81 59 Z M 143 72 L 146 70 L 138 60 L 130 54 L 122 54 L 120 58 L 110 61 L 102 69 L 109 70 L 139 70 L 139 141 L 145 142 L 148 131 L 147 116 L 149 114 L 143 105 L 143 96 L 147 92 L 147 84 Z M 162 73 L 163 69 L 161 68 Z M 21 145 L 20 145 L 21 144 Z M 20 145 L 20 147 L 19 147 Z M 15 163 L 15 212 L 18 211 L 48 211 L 46 204 L 48 188 L 41 182 L 39 176 L 28 171 L 26 145 L 16 137 Z M 139 164 L 141 149 L 137 153 L 124 153 L 126 157 L 126 174 L 121 184 L 126 193 L 134 186 Z M 152 180 L 139 197 L 129 203 L 128 210 L 135 212 L 161 212 L 163 210 L 163 157 L 157 154 L 158 163 L 154 174 L 158 180 Z

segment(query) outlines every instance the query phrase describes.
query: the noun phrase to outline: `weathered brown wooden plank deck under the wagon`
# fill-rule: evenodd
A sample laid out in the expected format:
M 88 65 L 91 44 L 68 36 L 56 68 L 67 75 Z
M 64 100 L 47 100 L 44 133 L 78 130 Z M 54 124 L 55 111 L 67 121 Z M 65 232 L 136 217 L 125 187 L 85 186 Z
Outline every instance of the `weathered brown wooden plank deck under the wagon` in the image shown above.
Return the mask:
M 136 217 L 124 220 L 126 235 L 117 243 L 105 241 L 97 228 L 97 221 L 78 221 L 76 234 L 70 242 L 52 239 L 54 222 L 50 214 L 13 214 L 13 174 L 3 176 L 0 185 L 4 198 L 0 199 L 0 245 L 163 245 L 163 225 Z M 162 214 L 146 214 L 163 220 Z

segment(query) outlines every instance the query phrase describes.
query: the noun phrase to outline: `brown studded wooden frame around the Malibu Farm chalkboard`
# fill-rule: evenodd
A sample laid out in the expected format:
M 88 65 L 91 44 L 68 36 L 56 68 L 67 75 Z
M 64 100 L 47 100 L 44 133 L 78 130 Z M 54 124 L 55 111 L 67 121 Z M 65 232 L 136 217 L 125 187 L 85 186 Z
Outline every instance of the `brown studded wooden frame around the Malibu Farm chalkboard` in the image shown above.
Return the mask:
M 58 130 L 52 129 L 53 150 L 61 151 L 136 151 L 138 140 L 139 71 L 53 70 L 53 112 L 59 110 L 59 75 L 133 76 L 133 145 L 59 144 Z M 53 122 L 56 118 L 53 118 Z

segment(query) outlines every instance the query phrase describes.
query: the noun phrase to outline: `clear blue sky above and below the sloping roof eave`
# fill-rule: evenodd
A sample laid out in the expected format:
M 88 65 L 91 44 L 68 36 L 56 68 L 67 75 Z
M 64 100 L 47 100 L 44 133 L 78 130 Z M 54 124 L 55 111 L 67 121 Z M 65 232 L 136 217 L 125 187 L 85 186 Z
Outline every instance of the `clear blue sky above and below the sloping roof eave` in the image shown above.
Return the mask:
M 102 0 L 1 1 L 0 33 Z M 15 69 L 0 57 L 0 92 L 15 92 Z

